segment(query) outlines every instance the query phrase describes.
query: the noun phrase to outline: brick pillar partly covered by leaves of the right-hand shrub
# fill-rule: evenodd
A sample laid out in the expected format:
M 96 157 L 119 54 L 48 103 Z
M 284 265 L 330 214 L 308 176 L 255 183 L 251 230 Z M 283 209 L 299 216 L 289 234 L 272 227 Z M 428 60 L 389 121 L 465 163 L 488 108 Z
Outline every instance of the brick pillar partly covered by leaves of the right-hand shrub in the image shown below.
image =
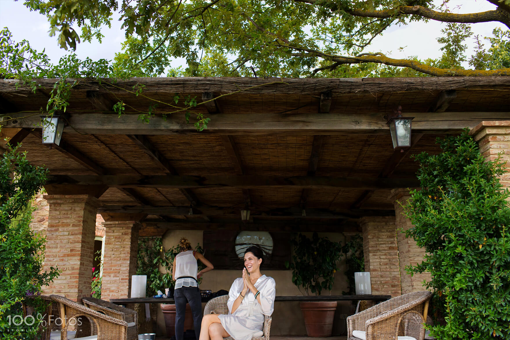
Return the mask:
M 407 189 L 393 189 L 388 198 L 395 205 L 395 226 L 397 228 L 398 242 L 398 259 L 400 263 L 400 283 L 402 286 L 402 294 L 418 292 L 425 290 L 423 280 L 430 281 L 430 273 L 414 274 L 413 276 L 405 272 L 405 267 L 412 264 L 416 265 L 423 261 L 425 249 L 416 245 L 416 241 L 412 237 L 405 237 L 400 229 L 407 230 L 412 228 L 411 220 L 403 215 L 403 208 L 399 204 L 405 204 L 411 198 Z

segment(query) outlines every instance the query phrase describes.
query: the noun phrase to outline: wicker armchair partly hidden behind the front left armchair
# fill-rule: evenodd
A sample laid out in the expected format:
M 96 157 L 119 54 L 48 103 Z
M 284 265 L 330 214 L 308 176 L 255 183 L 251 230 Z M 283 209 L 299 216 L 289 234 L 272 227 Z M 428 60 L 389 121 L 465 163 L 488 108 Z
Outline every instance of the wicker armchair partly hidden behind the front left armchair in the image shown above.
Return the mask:
M 138 340 L 136 311 L 96 298 L 82 298 L 82 301 L 90 309 L 127 322 L 127 340 Z

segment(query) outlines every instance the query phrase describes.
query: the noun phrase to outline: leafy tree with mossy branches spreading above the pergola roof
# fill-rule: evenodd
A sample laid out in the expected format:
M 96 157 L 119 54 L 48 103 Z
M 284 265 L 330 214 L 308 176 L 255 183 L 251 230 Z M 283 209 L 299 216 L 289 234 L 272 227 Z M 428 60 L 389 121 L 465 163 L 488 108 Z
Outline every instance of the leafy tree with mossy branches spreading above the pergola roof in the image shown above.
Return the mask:
M 137 75 L 161 75 L 174 58 L 184 58 L 187 68 L 170 74 L 187 76 L 305 77 L 364 63 L 409 67 L 436 76 L 510 75 L 501 64 L 494 68 L 495 63 L 477 62 L 472 64 L 474 70 L 460 65 L 465 60 L 462 42 L 471 35 L 468 24 L 495 21 L 510 28 L 510 0 L 488 1 L 496 9 L 469 14 L 450 12 L 448 1 L 437 5 L 432 0 L 28 0 L 25 4 L 48 16 L 50 33 L 58 32 L 64 48 L 76 48 L 80 40 L 76 27 L 81 27 L 84 40 L 101 39 L 101 25 L 110 25 L 114 10 L 118 11 L 126 40 L 115 63 Z M 392 59 L 370 50 L 372 40 L 389 27 L 416 20 L 448 23 L 446 37 L 440 38 L 445 40 L 445 54 L 439 64 Z M 481 56 L 491 58 L 491 53 L 473 56 L 478 61 Z

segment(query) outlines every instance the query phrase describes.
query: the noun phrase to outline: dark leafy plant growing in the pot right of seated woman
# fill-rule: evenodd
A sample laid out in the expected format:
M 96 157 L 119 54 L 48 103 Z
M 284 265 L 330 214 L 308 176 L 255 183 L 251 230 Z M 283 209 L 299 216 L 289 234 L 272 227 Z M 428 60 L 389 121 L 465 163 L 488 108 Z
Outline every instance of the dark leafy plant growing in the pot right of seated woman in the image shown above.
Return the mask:
M 292 262 L 286 262 L 292 269 L 292 282 L 303 287 L 307 295 L 309 290 L 320 295 L 322 289 L 333 289 L 337 262 L 342 257 L 340 242 L 330 241 L 313 233 L 312 238 L 299 234 L 291 239 L 294 246 Z

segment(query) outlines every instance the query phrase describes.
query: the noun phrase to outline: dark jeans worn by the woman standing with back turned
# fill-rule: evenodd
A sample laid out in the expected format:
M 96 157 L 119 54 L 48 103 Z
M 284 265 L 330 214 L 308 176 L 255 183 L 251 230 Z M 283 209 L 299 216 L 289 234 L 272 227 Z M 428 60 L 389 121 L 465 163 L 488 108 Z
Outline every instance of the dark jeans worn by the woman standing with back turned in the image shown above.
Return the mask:
M 193 325 L 195 326 L 195 335 L 198 340 L 200 337 L 200 326 L 202 324 L 202 299 L 198 287 L 181 287 L 173 292 L 175 300 L 175 340 L 184 338 L 184 314 L 186 313 L 186 303 L 190 304 L 193 314 Z

